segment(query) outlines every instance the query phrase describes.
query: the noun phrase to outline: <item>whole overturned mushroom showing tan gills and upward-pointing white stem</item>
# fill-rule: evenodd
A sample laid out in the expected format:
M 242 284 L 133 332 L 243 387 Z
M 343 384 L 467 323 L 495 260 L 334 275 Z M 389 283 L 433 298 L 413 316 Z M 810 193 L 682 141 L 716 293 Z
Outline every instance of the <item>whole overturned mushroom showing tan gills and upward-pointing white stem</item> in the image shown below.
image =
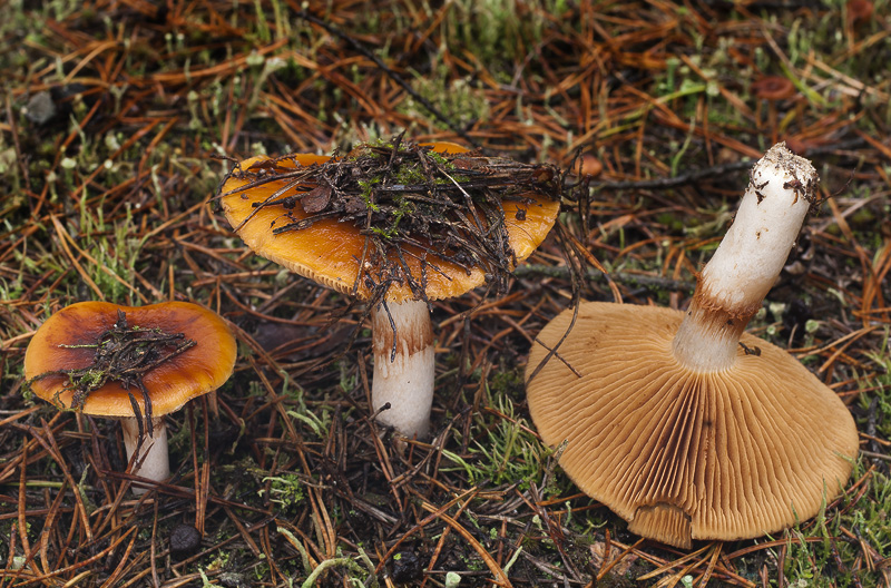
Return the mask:
M 858 454 L 854 421 L 832 390 L 743 332 L 819 178 L 784 144 L 750 177 L 686 312 L 584 303 L 571 330 L 568 310 L 541 331 L 527 367 L 532 420 L 546 443 L 566 443 L 569 477 L 633 532 L 683 548 L 813 517 Z

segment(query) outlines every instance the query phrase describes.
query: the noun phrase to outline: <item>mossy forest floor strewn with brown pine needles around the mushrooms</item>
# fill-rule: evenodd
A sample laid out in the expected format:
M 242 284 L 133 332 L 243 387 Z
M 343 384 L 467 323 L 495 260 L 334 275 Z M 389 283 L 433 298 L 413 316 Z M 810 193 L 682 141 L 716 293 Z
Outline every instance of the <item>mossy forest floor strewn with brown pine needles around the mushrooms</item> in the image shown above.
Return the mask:
M 891 585 L 888 0 L 314 4 L 0 2 L 0 587 Z M 223 157 L 403 130 L 584 161 L 560 220 L 594 264 L 574 284 L 552 234 L 506 293 L 433 302 L 433 435 L 408 442 L 372 419 L 363 305 L 254 255 L 212 203 Z M 774 537 L 640 539 L 538 437 L 530 342 L 574 294 L 685 308 L 780 140 L 825 204 L 750 332 L 843 400 L 861 455 Z M 196 302 L 238 341 L 139 498 L 114 421 L 25 385 L 35 331 L 88 300 Z

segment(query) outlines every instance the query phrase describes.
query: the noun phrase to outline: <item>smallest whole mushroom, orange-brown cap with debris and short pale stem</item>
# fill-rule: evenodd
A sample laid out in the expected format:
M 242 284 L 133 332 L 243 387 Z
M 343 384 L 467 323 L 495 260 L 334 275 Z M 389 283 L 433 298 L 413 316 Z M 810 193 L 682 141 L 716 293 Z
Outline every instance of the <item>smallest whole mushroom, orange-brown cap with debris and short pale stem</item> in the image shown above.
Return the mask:
M 119 420 L 133 473 L 161 481 L 170 476 L 164 415 L 222 385 L 235 351 L 223 320 L 197 304 L 81 302 L 37 330 L 25 378 L 60 409 Z

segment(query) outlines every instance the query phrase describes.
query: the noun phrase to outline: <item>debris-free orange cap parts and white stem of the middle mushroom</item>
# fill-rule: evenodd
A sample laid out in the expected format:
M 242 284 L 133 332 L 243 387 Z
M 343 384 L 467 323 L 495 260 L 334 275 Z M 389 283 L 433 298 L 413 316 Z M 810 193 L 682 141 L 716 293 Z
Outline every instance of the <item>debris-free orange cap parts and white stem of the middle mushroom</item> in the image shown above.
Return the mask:
M 430 147 L 447 156 L 467 154 L 452 160 L 454 175 L 467 174 L 467 169 L 473 169 L 477 165 L 477 159 L 461 146 L 441 143 Z M 347 202 L 345 210 L 323 218 L 313 216 L 319 215 L 321 209 L 315 206 L 319 186 L 314 184 L 312 166 L 330 159 L 296 155 L 274 160 L 273 165 L 283 175 L 288 170 L 293 170 L 294 176 L 307 171 L 293 189 L 287 188 L 286 179 L 263 182 L 256 175 L 252 184 L 247 174 L 241 174 L 241 177 L 231 175 L 221 189 L 223 210 L 255 253 L 320 284 L 369 301 L 375 295 L 376 285 L 390 281 L 384 298 L 373 301 L 371 308 L 374 359 L 372 409 L 375 412 L 386 409 L 378 416 L 381 422 L 394 427 L 407 437 L 421 438 L 430 427 L 434 376 L 433 329 L 427 301 L 460 296 L 483 284 L 487 270 L 477 262 L 462 266 L 454 263 L 453 258 L 444 258 L 443 252 L 429 251 L 429 242 L 423 235 L 417 236 L 417 245 L 405 245 L 403 255 L 395 262 L 396 254 L 391 251 L 386 251 L 385 255 L 376 255 L 375 262 L 370 261 L 369 248 L 373 246 L 369 245 L 369 232 L 354 222 L 344 222 L 350 215 L 354 218 L 360 214 L 364 218 L 365 210 L 372 209 L 370 204 L 353 198 L 358 202 Z M 272 161 L 265 157 L 254 157 L 238 167 L 242 170 L 262 169 Z M 550 171 L 550 168 L 546 171 Z M 419 198 L 430 198 L 428 188 L 422 188 L 412 189 Z M 293 199 L 286 200 L 288 197 Z M 313 203 L 312 213 L 305 208 L 307 197 Z M 271 198 L 286 202 L 288 208 L 283 210 L 282 206 L 258 206 Z M 444 205 L 430 202 L 433 206 Z M 559 209 L 559 198 L 528 192 L 502 200 L 501 207 L 508 245 L 512 252 L 511 263 L 516 264 L 528 257 L 550 231 Z M 472 209 L 467 209 L 467 215 L 473 214 Z M 283 220 L 283 215 L 286 220 Z M 300 229 L 273 229 L 285 223 L 296 226 L 303 222 L 306 222 L 306 226 L 301 225 Z M 489 226 L 493 226 L 490 220 L 481 222 L 489 222 Z M 393 265 L 399 265 L 400 275 L 391 273 Z M 413 282 L 413 286 L 410 282 Z M 423 296 L 419 296 L 419 290 Z

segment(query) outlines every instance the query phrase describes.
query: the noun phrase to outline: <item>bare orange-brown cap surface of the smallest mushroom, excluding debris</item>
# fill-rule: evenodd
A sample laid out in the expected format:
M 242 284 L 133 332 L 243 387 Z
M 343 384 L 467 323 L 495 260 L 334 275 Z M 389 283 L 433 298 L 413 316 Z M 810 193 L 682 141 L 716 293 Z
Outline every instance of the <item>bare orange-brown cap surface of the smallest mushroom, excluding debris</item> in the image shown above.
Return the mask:
M 95 345 L 117 322 L 117 312 L 127 315 L 130 326 L 184 333 L 197 344 L 176 355 L 143 378 L 151 399 L 151 413 L 161 416 L 176 411 L 195 396 L 222 385 L 235 365 L 235 339 L 214 312 L 187 302 L 166 302 L 149 306 L 120 306 L 107 302 L 81 302 L 66 306 L 40 326 L 25 353 L 25 378 L 55 370 L 77 370 L 92 363 L 95 349 L 60 345 Z M 31 390 L 41 399 L 62 408 L 71 406 L 72 392 L 59 393 L 68 378 L 48 375 L 33 380 Z M 145 411 L 138 390 L 130 390 Z M 119 382 L 107 382 L 84 402 L 84 412 L 98 416 L 134 416 L 127 390 Z

